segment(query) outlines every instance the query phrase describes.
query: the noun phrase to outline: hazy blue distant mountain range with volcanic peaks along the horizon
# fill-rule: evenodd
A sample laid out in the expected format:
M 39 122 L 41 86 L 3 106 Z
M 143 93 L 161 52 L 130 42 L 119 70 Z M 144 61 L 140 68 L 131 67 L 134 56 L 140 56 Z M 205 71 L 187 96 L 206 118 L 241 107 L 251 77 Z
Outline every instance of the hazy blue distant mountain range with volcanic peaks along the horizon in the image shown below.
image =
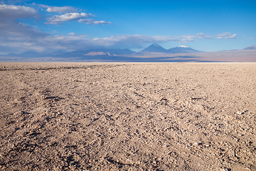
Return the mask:
M 251 51 L 248 51 L 251 50 Z M 217 57 L 218 58 L 217 58 Z M 225 57 L 225 58 L 224 58 Z M 240 58 L 242 58 L 240 60 Z M 246 58 L 246 59 L 245 59 Z M 218 60 L 217 60 L 218 59 Z M 199 62 L 199 61 L 255 61 L 256 46 L 249 46 L 241 50 L 202 52 L 188 46 L 163 48 L 157 43 L 135 52 L 129 49 L 97 48 L 85 51 L 53 53 L 9 53 L 0 56 L 0 61 L 110 61 L 110 62 Z

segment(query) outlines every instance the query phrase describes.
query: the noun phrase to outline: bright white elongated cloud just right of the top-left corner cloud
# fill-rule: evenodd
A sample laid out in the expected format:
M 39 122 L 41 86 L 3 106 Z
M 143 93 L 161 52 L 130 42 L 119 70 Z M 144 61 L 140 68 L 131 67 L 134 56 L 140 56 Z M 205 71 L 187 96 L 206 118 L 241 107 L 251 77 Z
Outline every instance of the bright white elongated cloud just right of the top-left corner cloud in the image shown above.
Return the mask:
M 61 24 L 64 21 L 75 21 L 82 18 L 89 18 L 93 16 L 92 14 L 85 14 L 85 13 L 67 13 L 63 15 L 56 15 L 48 18 L 46 24 Z

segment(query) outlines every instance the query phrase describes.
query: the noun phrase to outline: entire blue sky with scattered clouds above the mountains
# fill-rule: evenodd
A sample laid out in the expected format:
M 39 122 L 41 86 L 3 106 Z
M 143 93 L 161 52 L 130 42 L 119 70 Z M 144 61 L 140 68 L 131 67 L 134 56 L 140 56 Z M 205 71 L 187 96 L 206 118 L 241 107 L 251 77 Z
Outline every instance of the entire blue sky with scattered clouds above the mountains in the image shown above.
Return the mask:
M 256 1 L 0 0 L 0 54 L 256 45 Z

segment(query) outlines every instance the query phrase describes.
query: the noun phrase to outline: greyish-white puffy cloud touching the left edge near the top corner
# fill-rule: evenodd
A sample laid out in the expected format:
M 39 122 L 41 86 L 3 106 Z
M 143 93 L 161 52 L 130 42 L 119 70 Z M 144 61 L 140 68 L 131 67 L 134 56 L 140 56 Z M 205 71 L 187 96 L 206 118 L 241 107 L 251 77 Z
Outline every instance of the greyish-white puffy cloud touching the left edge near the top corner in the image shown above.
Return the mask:
M 38 15 L 38 11 L 28 6 L 0 5 L 1 18 L 23 18 Z

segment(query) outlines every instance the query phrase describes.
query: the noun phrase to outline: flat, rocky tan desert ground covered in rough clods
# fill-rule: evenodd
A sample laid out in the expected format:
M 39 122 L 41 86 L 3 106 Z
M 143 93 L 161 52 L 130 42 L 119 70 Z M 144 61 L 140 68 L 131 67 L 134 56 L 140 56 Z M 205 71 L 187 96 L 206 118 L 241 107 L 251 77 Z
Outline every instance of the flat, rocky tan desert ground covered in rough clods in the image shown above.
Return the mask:
M 256 63 L 0 63 L 0 170 L 256 170 Z

